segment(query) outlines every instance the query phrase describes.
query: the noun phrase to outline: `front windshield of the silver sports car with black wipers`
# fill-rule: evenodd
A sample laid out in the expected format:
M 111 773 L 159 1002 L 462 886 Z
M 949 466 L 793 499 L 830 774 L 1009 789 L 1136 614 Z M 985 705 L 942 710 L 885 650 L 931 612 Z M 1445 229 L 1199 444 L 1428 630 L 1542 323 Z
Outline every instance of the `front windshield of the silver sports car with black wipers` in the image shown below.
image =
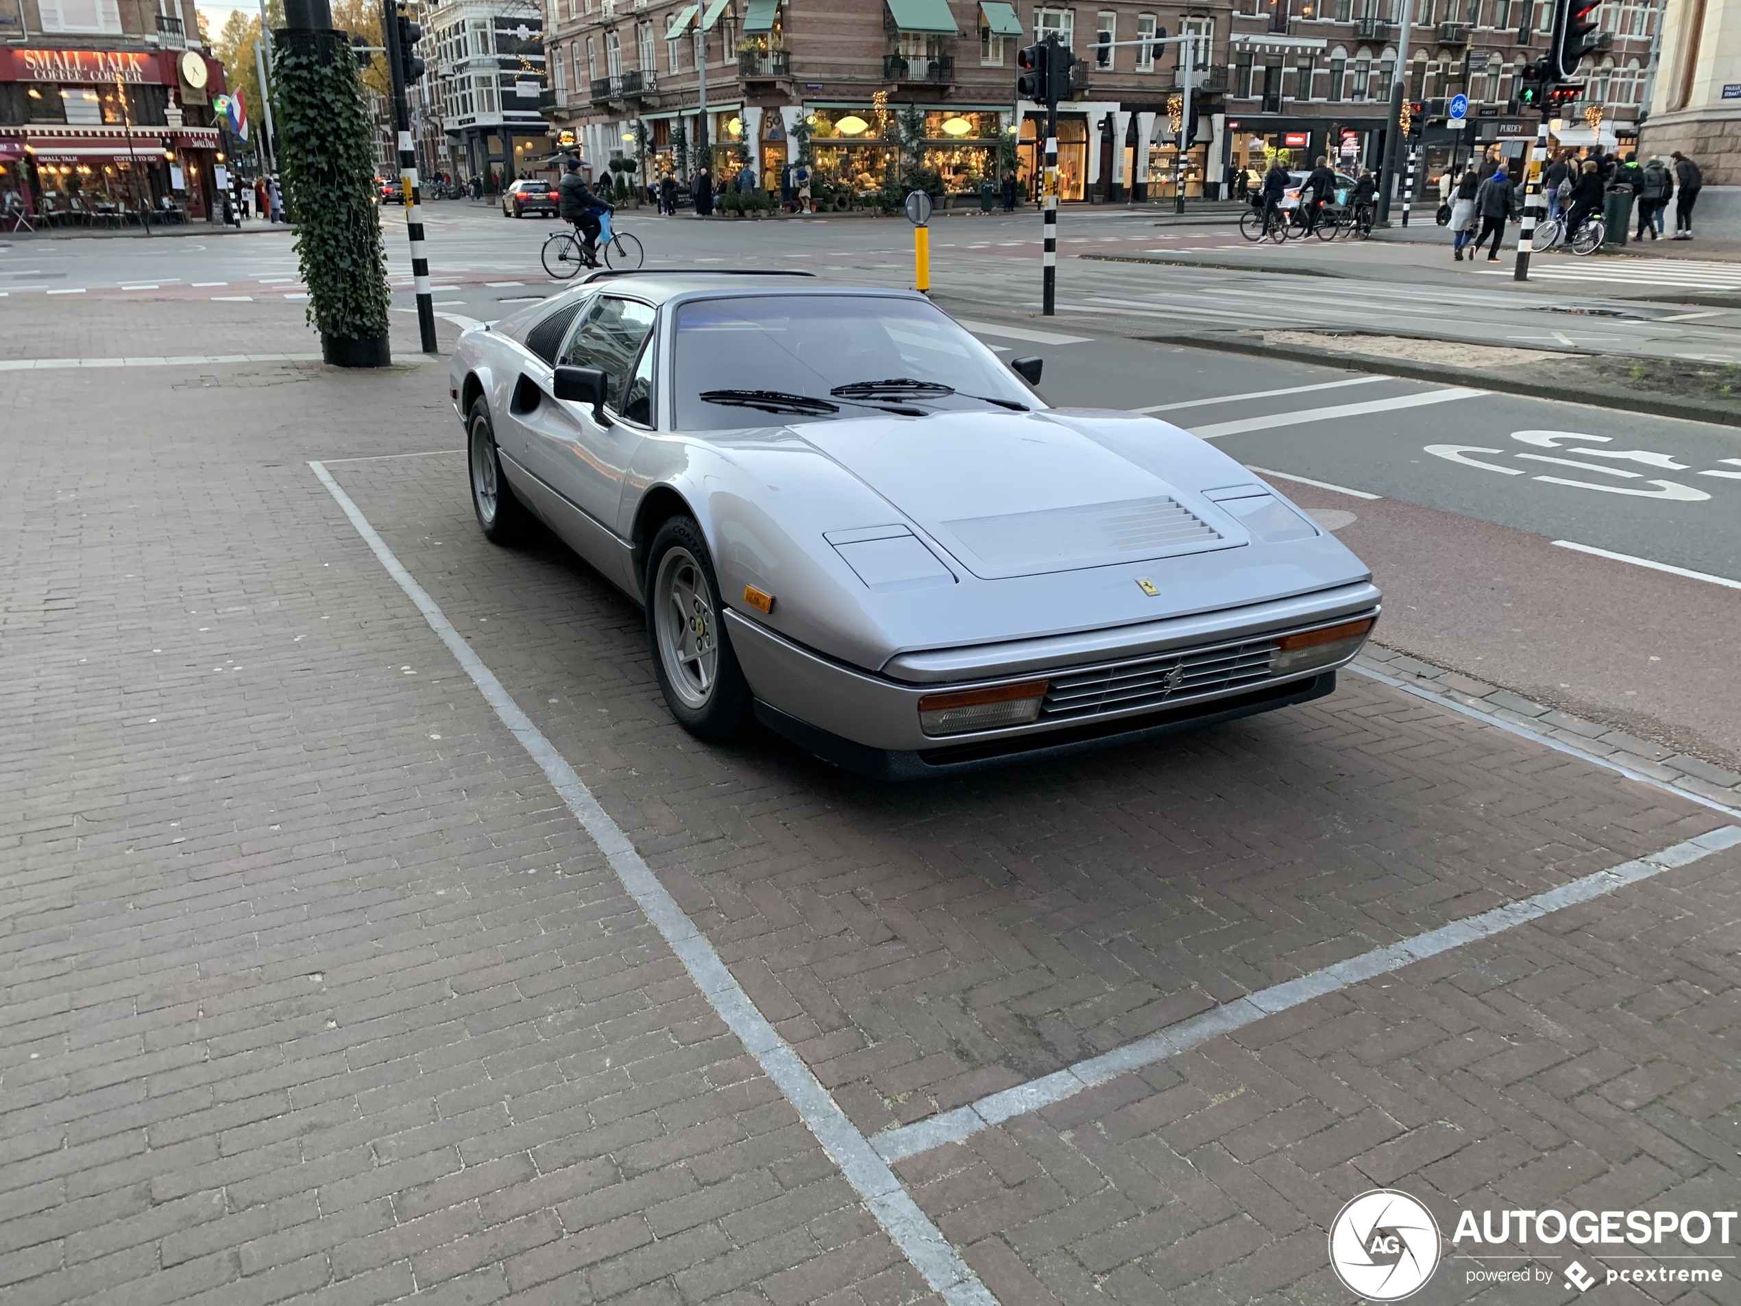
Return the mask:
M 679 430 L 1039 404 L 931 305 L 867 294 L 682 305 L 676 385 Z

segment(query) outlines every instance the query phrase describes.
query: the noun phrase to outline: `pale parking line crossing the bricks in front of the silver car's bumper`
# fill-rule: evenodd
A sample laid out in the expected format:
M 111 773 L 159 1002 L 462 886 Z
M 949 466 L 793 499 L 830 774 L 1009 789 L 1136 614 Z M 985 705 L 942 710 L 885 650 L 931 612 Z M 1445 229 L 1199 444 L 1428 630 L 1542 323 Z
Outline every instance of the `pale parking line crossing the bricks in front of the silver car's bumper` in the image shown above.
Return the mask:
M 1346 961 L 1337 961 L 1297 979 L 1271 984 L 1267 989 L 1220 1003 L 1201 1015 L 1193 1015 L 1099 1057 L 1088 1057 L 1074 1066 L 1065 1066 L 1062 1071 L 1018 1083 L 1013 1088 L 991 1094 L 968 1106 L 958 1106 L 954 1111 L 944 1111 L 918 1120 L 912 1125 L 884 1130 L 872 1139 L 870 1146 L 876 1148 L 877 1156 L 884 1161 L 900 1161 L 907 1156 L 918 1156 L 921 1151 L 940 1148 L 945 1142 L 959 1142 L 1005 1120 L 1062 1102 L 1085 1088 L 1153 1066 L 1180 1052 L 1189 1052 L 1208 1043 L 1212 1038 L 1231 1034 L 1234 1029 L 1257 1024 L 1267 1015 L 1287 1012 L 1313 998 L 1346 989 L 1374 975 L 1389 975 L 1403 966 L 1412 966 L 1415 961 L 1473 944 L 1478 939 L 1490 939 L 1527 921 L 1541 919 L 1549 912 L 1600 899 L 1605 893 L 1637 885 L 1642 879 L 1650 879 L 1650 876 L 1657 876 L 1663 871 L 1691 865 L 1699 858 L 1724 848 L 1734 848 L 1736 845 L 1741 845 L 1741 825 L 1720 825 L 1708 834 L 1677 843 L 1637 862 L 1621 862 L 1616 867 L 1595 871 L 1558 888 L 1549 888 L 1544 893 L 1483 911 L 1480 916 L 1468 916 L 1461 921 L 1442 925 L 1436 930 L 1412 935 L 1402 942 L 1374 947 L 1370 953 L 1351 956 Z

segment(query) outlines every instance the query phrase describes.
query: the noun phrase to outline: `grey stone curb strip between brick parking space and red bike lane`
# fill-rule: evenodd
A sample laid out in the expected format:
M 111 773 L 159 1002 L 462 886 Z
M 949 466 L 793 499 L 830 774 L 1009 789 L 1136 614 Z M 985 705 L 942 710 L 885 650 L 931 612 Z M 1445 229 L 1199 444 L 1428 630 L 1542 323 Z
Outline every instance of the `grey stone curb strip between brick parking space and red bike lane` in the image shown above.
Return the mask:
M 1417 686 L 1436 697 L 1464 707 L 1475 707 L 1501 721 L 1525 726 L 1537 735 L 1544 735 L 1556 744 L 1579 749 L 1583 752 L 1605 757 L 1617 766 L 1626 766 L 1640 775 L 1649 775 L 1673 789 L 1741 808 L 1741 775 L 1713 766 L 1699 757 L 1677 754 L 1656 744 L 1614 730 L 1600 721 L 1562 712 L 1546 703 L 1537 703 L 1511 690 L 1501 690 L 1455 670 L 1436 667 L 1431 662 L 1398 653 L 1384 644 L 1368 643 L 1356 665 L 1381 670 L 1405 684 Z

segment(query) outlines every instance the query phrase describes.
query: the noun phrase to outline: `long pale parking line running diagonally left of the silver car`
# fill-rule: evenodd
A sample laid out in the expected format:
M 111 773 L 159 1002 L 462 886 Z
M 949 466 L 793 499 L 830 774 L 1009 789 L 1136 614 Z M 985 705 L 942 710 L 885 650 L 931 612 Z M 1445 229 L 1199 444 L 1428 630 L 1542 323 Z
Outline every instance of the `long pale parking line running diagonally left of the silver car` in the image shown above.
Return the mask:
M 822 1149 L 841 1168 L 841 1174 L 853 1189 L 857 1189 L 877 1224 L 883 1226 L 884 1233 L 888 1233 L 924 1276 L 931 1290 L 940 1294 L 949 1306 L 998 1306 L 998 1299 L 980 1283 L 968 1264 L 956 1256 L 930 1215 L 919 1210 L 919 1203 L 909 1196 L 900 1179 L 895 1177 L 895 1172 L 865 1142 L 864 1134 L 846 1118 L 846 1113 L 829 1095 L 829 1090 L 822 1087 L 810 1066 L 804 1064 L 797 1052 L 792 1050 L 792 1045 L 775 1031 L 768 1017 L 750 1001 L 750 996 L 738 984 L 736 977 L 719 959 L 719 953 L 714 951 L 707 935 L 695 928 L 695 921 L 684 914 L 670 892 L 648 869 L 634 843 L 623 834 L 611 815 L 599 806 L 599 799 L 594 798 L 587 784 L 575 773 L 575 768 L 568 764 L 568 759 L 557 752 L 555 745 L 521 710 L 521 705 L 514 702 L 514 697 L 501 686 L 496 674 L 465 643 L 465 636 L 453 629 L 453 622 L 447 620 L 428 592 L 406 571 L 404 564 L 393 555 L 393 550 L 387 547 L 387 542 L 369 524 L 369 519 L 362 515 L 362 510 L 350 500 L 350 495 L 333 479 L 326 465 L 312 461 L 308 467 L 338 502 L 350 524 L 357 529 L 357 535 L 362 536 L 369 550 L 387 568 L 387 575 L 399 583 L 399 589 L 423 613 L 423 620 L 430 623 L 430 629 L 447 646 L 447 651 L 453 653 L 465 674 L 472 677 L 472 684 L 484 695 L 484 702 L 494 709 L 501 724 L 508 728 L 508 733 L 538 763 L 552 789 L 562 798 L 568 810 L 575 813 L 575 818 L 587 834 L 592 836 L 592 841 L 609 862 L 611 871 L 616 872 L 623 888 L 641 905 L 641 911 L 665 939 L 670 951 L 682 961 L 684 970 L 689 972 L 689 977 L 719 1013 L 719 1019 L 738 1036 L 743 1050 L 756 1057 L 763 1073 L 773 1080 L 775 1087 L 792 1104 L 799 1118 L 817 1137 L 817 1142 L 822 1144 Z

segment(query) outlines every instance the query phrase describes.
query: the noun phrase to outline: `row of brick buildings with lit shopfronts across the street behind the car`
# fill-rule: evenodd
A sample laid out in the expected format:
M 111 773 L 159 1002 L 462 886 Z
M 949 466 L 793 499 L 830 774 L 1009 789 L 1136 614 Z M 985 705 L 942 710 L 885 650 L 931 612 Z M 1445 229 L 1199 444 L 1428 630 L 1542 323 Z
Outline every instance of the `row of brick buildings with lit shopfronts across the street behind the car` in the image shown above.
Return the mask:
M 1262 169 L 1276 155 L 1299 165 L 1328 151 L 1349 169 L 1375 165 L 1398 66 L 1410 99 L 1428 101 L 1429 169 L 1476 145 L 1518 148 L 1534 122 L 1509 113 L 1508 101 L 1518 70 L 1546 54 L 1553 14 L 1551 0 L 1415 0 L 1400 59 L 1402 0 L 545 5 L 547 115 L 554 132 L 573 132 L 590 167 L 642 153 L 649 172 L 695 167 L 696 50 L 705 49 L 714 174 L 736 171 L 742 141 L 770 188 L 803 131 L 820 176 L 869 188 L 891 150 L 890 111 L 909 103 L 924 111 L 926 162 L 949 188 L 994 174 L 1005 136 L 1015 138 L 1018 172 L 1031 185 L 1039 113 L 1015 99 L 1015 52 L 1057 33 L 1081 61 L 1076 98 L 1059 122 L 1062 193 L 1078 200 L 1172 195 L 1184 47 L 1121 42 L 1198 37 L 1191 80 L 1200 117 L 1186 193 L 1217 195 L 1234 169 Z M 1614 40 L 1588 82 L 1602 120 L 1591 129 L 1579 113 L 1563 124 L 1567 145 L 1612 145 L 1635 131 L 1657 7 L 1603 7 Z M 1471 99 L 1469 125 L 1450 129 L 1433 101 L 1457 92 Z

